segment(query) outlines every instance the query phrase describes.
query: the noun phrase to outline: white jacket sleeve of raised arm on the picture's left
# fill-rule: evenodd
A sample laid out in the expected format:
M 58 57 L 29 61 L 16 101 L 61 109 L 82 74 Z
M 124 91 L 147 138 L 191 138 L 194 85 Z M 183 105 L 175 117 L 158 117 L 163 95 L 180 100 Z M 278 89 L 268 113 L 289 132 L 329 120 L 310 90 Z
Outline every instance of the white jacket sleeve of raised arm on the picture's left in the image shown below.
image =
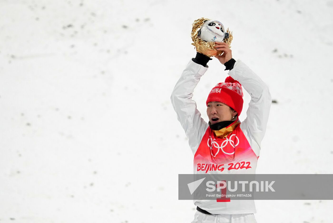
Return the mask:
M 173 109 L 177 113 L 177 119 L 188 137 L 188 144 L 193 154 L 195 154 L 208 128 L 208 123 L 201 118 L 196 103 L 192 100 L 194 88 L 207 69 L 207 65 L 203 67 L 190 60 L 171 93 Z

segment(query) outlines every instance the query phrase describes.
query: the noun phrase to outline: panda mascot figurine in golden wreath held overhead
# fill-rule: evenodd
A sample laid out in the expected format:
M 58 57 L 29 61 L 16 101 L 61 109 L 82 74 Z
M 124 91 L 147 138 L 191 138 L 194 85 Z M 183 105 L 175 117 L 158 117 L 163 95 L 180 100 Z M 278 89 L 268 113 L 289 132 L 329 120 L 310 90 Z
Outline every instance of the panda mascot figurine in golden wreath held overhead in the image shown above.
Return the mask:
M 193 22 L 191 36 L 196 52 L 209 57 L 222 54 L 222 51 L 215 49 L 215 42 L 225 42 L 230 48 L 232 41 L 232 32 L 230 33 L 229 29 L 225 31 L 221 22 L 207 18 L 200 18 Z

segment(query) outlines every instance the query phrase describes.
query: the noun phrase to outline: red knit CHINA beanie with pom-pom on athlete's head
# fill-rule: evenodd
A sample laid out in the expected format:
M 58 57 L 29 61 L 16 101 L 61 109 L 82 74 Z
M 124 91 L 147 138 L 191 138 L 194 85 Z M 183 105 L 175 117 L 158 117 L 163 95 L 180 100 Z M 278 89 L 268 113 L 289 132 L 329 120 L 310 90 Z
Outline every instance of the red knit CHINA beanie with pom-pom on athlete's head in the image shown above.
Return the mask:
M 210 101 L 218 101 L 228 105 L 237 112 L 237 116 L 239 117 L 243 109 L 242 85 L 237 80 L 228 76 L 225 78 L 225 82 L 216 84 L 209 92 L 206 105 Z

